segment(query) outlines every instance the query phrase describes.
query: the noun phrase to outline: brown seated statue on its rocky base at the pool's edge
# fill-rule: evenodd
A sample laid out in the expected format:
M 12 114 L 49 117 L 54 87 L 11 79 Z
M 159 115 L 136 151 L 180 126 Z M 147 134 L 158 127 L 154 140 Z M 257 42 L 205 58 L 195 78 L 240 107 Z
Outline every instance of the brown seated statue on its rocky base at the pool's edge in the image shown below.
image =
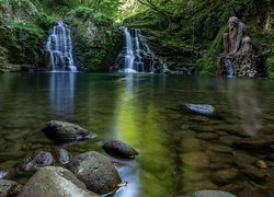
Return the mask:
M 229 32 L 224 34 L 225 54 L 218 57 L 217 74 L 229 76 L 233 69 L 235 77 L 266 77 L 265 59 L 256 56 L 256 47 L 251 39 L 248 27 L 237 16 L 228 20 Z

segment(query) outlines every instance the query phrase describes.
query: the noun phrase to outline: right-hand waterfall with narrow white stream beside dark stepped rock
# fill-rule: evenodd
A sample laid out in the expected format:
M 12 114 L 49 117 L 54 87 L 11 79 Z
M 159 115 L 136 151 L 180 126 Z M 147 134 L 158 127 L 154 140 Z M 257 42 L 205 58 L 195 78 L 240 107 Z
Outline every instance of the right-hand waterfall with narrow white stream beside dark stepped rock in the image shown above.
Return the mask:
M 139 30 L 122 28 L 124 47 L 119 53 L 115 68 L 121 72 L 155 72 L 160 70 L 160 60 L 149 48 Z

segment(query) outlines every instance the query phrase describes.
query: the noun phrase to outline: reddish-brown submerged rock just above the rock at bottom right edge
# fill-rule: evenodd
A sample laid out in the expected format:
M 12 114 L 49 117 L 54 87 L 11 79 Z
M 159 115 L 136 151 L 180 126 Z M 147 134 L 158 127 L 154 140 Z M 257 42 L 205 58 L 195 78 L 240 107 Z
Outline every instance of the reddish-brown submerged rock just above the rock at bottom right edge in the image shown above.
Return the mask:
M 239 170 L 235 167 L 216 171 L 212 174 L 213 181 L 217 185 L 227 185 L 239 176 Z

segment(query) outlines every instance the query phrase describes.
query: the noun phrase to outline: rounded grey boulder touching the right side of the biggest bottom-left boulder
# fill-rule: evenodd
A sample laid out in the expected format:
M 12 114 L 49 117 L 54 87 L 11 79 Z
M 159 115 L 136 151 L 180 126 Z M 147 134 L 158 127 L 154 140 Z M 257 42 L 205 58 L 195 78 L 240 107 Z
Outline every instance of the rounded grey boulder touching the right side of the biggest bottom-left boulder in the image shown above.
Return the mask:
M 113 192 L 122 183 L 115 166 L 94 151 L 77 155 L 67 163 L 67 167 L 96 194 Z

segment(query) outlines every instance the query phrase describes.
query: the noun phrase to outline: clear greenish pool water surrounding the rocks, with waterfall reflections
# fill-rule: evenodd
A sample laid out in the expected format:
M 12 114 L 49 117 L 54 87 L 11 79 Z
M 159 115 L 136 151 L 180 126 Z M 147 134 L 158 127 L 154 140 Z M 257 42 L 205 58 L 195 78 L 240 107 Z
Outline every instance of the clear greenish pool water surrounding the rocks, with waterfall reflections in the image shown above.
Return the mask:
M 178 196 L 204 188 L 236 195 L 244 189 L 269 193 L 274 187 L 274 164 L 266 159 L 271 152 L 240 150 L 267 163 L 262 171 L 267 171 L 269 177 L 263 183 L 250 179 L 232 162 L 220 169 L 237 167 L 240 178 L 219 185 L 212 178 L 216 171 L 210 167 L 212 160 L 204 169 L 189 167 L 187 161 L 198 162 L 197 152 L 210 158 L 216 151 L 212 147 L 224 144 L 224 136 L 233 136 L 228 127 L 253 138 L 273 138 L 273 80 L 158 74 L 1 74 L 0 170 L 24 184 L 31 174 L 22 172 L 21 163 L 35 150 L 61 147 L 71 157 L 90 150 L 105 154 L 100 140 L 119 139 L 137 149 L 139 155 L 133 161 L 116 161 L 122 162 L 117 167 L 128 184 L 115 196 Z M 180 106 L 186 103 L 210 104 L 216 116 L 185 114 Z M 52 119 L 78 124 L 98 137 L 56 146 L 41 132 Z M 217 137 L 199 138 L 201 132 Z M 230 157 L 238 151 L 232 144 L 227 148 L 231 151 L 217 152 Z

